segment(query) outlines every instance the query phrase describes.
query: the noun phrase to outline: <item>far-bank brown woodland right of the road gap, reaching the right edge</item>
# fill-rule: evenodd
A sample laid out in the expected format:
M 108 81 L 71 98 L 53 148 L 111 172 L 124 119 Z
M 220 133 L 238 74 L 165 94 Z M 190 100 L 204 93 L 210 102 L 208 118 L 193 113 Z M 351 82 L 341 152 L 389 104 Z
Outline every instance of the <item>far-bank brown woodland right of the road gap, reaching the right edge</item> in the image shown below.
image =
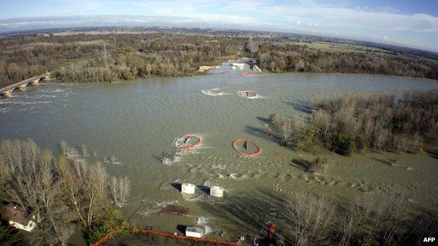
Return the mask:
M 438 79 L 438 62 L 383 53 L 323 51 L 286 41 L 259 40 L 246 43 L 248 55 L 258 59 L 260 69 L 274 73 L 390 74 Z

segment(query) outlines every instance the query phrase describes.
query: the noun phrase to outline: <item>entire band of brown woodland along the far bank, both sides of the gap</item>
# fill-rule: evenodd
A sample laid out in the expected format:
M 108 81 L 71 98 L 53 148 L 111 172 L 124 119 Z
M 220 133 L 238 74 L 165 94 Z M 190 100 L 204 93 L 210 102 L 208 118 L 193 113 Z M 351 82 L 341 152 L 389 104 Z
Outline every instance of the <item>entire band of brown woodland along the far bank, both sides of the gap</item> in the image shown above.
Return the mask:
M 201 65 L 218 65 L 237 55 L 256 57 L 261 69 L 274 73 L 303 71 L 438 78 L 438 62 L 420 57 L 342 53 L 336 49 L 323 51 L 293 44 L 286 38 L 190 32 L 22 34 L 0 39 L 0 86 L 52 70 L 66 82 L 190 76 L 197 74 L 196 69 Z

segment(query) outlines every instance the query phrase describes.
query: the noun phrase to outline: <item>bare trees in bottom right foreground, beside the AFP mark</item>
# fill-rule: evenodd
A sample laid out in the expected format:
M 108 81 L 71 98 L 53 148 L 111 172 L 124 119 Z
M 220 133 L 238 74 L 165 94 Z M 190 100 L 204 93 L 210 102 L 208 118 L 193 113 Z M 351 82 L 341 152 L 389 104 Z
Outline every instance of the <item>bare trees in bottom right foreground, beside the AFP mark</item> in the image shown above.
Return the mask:
M 277 245 L 420 245 L 438 232 L 438 210 L 418 210 L 404 193 L 359 196 L 340 205 L 324 196 L 293 193 Z M 436 205 L 436 203 L 435 203 Z

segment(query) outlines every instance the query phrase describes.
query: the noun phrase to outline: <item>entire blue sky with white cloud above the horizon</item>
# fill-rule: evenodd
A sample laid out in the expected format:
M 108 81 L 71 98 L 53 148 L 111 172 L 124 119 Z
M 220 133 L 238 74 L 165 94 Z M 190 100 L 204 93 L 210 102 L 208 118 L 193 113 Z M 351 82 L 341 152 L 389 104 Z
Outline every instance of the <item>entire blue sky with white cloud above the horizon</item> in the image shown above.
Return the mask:
M 81 26 L 87 18 L 147 26 L 157 23 L 152 16 L 186 27 L 319 34 L 438 51 L 438 0 L 0 0 L 1 30 Z M 76 19 L 67 25 L 67 17 Z

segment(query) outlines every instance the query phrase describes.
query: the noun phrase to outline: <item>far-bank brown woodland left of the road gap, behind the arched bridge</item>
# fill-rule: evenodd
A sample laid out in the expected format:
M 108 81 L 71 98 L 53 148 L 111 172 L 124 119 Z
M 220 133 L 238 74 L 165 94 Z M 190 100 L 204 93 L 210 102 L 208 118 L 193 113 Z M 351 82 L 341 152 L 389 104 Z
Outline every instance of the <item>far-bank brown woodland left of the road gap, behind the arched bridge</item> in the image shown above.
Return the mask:
M 230 36 L 172 33 L 13 36 L 1 40 L 0 86 L 53 69 L 67 82 L 190 76 L 201 65 L 237 55 L 243 43 Z

